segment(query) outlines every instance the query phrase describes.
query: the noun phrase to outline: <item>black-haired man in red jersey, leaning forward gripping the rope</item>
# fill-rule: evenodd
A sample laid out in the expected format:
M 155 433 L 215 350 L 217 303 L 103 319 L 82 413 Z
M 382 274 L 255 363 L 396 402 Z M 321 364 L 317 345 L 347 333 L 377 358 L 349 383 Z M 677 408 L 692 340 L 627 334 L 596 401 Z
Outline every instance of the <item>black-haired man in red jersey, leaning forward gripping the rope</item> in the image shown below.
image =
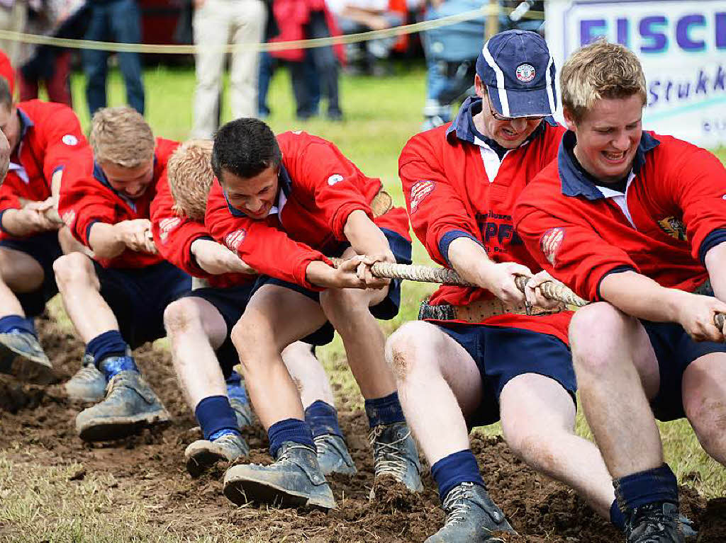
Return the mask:
M 269 466 L 232 466 L 225 494 L 234 502 L 335 507 L 300 395 L 280 357 L 300 339 L 326 344 L 333 327 L 366 400 L 376 475 L 420 489 L 418 455 L 375 321 L 398 312 L 400 281 L 370 273 L 376 261 L 411 262 L 405 210 L 391 208 L 380 180 L 363 175 L 330 141 L 303 132 L 276 138 L 255 119 L 219 130 L 212 167 L 219 183 L 210 193 L 207 227 L 265 275 L 232 341 L 277 459 Z M 350 260 L 336 269 L 324 255 Z

